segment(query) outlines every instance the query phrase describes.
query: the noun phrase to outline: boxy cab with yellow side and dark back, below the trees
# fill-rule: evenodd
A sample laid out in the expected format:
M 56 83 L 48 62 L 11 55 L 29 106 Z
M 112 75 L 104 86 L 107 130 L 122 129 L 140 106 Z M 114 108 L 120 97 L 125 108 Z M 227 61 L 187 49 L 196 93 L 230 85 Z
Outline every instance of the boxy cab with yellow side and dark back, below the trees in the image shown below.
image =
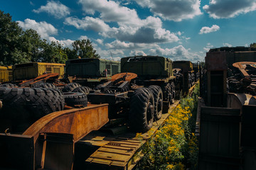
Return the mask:
M 61 79 L 64 76 L 65 64 L 29 62 L 16 64 L 12 70 L 14 80 L 34 79 L 46 73 L 58 73 Z

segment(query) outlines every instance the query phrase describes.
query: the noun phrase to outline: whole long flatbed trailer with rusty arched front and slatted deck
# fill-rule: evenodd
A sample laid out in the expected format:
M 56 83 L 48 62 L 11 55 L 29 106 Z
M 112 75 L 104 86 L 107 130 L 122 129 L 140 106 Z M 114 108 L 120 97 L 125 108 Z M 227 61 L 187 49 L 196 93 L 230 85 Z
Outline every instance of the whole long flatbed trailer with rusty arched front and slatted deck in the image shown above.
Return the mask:
M 142 138 L 124 126 L 107 128 L 111 122 L 107 104 L 65 106 L 64 111 L 44 116 L 22 133 L 0 133 L 0 169 L 133 169 L 143 157 L 144 144 L 178 103 Z

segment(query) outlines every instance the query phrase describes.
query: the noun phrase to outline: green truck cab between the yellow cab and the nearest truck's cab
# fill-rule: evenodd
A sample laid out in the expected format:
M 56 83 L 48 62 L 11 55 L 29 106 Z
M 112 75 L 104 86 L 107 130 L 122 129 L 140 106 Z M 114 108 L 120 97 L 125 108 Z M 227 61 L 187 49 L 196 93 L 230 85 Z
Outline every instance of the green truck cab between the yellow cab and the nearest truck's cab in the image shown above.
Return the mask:
M 68 82 L 91 88 L 109 81 L 111 76 L 120 72 L 120 62 L 104 59 L 73 59 L 65 63 L 65 79 Z

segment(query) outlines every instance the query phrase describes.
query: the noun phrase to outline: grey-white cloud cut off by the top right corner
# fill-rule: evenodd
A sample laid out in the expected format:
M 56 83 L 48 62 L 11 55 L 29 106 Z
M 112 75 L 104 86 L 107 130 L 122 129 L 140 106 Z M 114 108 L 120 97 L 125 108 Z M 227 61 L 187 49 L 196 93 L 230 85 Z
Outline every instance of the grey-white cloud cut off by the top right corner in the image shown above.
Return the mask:
M 210 0 L 203 9 L 212 18 L 233 18 L 241 13 L 256 10 L 256 0 Z

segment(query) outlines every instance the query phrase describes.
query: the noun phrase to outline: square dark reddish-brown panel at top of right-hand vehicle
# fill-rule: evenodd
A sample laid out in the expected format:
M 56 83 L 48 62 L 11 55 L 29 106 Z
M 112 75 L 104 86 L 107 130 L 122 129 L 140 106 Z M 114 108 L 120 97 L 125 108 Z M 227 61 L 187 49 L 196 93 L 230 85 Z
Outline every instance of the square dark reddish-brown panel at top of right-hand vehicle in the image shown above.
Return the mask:
M 206 69 L 208 71 L 218 71 L 228 69 L 225 52 L 207 52 Z

